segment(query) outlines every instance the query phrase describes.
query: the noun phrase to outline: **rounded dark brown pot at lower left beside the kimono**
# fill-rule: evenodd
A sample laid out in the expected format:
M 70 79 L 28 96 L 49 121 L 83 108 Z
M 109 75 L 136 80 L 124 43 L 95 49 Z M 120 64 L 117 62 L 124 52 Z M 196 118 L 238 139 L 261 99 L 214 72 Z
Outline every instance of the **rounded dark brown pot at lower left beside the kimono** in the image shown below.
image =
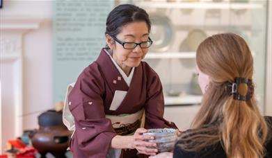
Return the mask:
M 34 148 L 41 157 L 50 152 L 54 157 L 63 158 L 69 146 L 71 132 L 63 124 L 62 111 L 48 110 L 38 116 L 39 129 L 31 136 Z

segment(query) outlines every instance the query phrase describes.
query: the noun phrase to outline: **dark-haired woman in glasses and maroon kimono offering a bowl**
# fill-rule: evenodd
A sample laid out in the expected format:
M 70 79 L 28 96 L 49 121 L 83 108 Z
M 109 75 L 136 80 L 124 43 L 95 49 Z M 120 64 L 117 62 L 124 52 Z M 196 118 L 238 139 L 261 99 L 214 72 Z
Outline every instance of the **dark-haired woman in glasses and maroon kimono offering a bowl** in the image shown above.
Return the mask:
M 176 128 L 163 119 L 159 76 L 143 58 L 152 45 L 145 10 L 124 4 L 106 20 L 106 48 L 77 78 L 67 98 L 74 116 L 74 157 L 155 155 L 145 129 Z M 153 148 L 152 148 L 153 147 Z M 129 149 L 129 150 L 123 150 Z

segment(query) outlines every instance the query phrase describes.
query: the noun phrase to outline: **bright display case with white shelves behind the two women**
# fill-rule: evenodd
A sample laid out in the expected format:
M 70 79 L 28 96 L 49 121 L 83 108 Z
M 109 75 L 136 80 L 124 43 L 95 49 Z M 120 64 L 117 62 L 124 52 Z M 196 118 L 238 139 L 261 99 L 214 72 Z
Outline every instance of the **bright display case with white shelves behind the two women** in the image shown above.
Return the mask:
M 262 79 L 264 67 L 262 64 L 264 63 L 263 58 L 266 56 L 265 49 L 262 47 L 265 45 L 267 37 L 264 32 L 264 29 L 267 28 L 265 23 L 269 19 L 267 17 L 267 0 L 132 0 L 131 2 L 147 10 L 150 15 L 153 15 L 153 20 L 163 21 L 152 24 L 152 28 L 156 28 L 157 25 L 157 31 L 153 31 L 156 34 L 152 40 L 156 42 L 156 37 L 157 39 L 160 37 L 157 40 L 159 44 L 160 42 L 168 42 L 168 45 L 165 46 L 167 51 L 163 51 L 164 45 L 161 44 L 163 49 L 158 49 L 158 52 L 151 49 L 145 59 L 161 75 L 162 83 L 166 86 L 164 89 L 168 89 L 168 86 L 172 84 L 172 87 L 184 91 L 186 94 L 177 97 L 165 95 L 166 119 L 174 121 L 179 127 L 186 129 L 189 127 L 189 124 L 186 123 L 192 120 L 200 108 L 198 105 L 200 105 L 202 96 L 189 94 L 191 91 L 190 76 L 195 71 L 193 67 L 195 62 L 192 61 L 196 56 L 195 45 L 189 47 L 189 43 L 185 43 L 183 49 L 180 49 L 183 42 L 189 39 L 190 31 L 197 29 L 205 32 L 207 36 L 216 33 L 236 33 L 248 42 L 255 63 L 257 63 L 255 65 L 257 66 L 255 69 L 258 69 L 255 71 L 258 85 L 256 94 L 258 103 L 262 106 L 264 89 Z M 173 41 L 163 41 L 169 33 L 172 33 Z M 199 37 L 202 37 L 201 33 L 199 34 Z M 191 40 L 190 42 L 191 44 L 193 42 L 199 43 L 200 40 Z M 193 52 L 184 52 L 189 50 Z M 260 108 L 262 110 L 262 107 Z

